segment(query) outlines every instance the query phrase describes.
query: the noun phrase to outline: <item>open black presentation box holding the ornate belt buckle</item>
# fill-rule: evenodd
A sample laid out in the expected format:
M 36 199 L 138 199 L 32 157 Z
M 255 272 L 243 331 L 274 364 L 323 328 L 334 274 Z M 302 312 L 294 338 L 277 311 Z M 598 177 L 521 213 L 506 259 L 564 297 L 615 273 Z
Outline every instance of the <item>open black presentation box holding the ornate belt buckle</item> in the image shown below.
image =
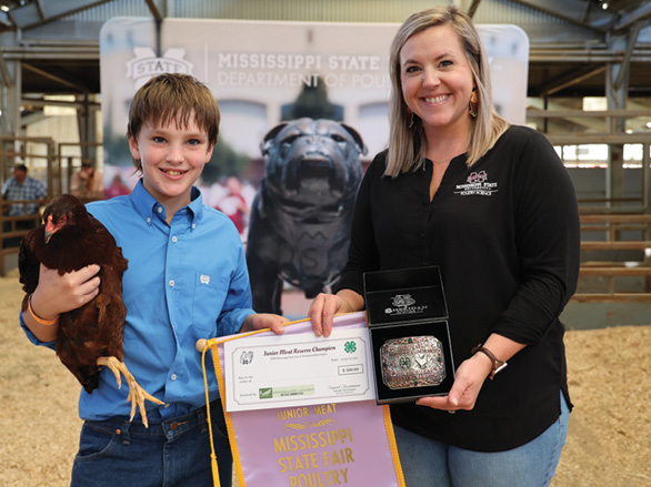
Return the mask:
M 377 403 L 445 395 L 454 382 L 438 266 L 364 273 Z

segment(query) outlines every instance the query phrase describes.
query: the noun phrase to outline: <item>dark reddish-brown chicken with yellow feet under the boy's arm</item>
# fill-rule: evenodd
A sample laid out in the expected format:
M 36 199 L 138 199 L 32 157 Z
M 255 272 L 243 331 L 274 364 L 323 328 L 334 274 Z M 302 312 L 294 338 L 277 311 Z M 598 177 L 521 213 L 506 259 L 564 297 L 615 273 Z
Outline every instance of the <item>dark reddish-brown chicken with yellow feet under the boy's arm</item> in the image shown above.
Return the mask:
M 63 275 L 90 264 L 101 266 L 99 294 L 80 308 L 61 314 L 57 336 L 57 355 L 77 377 L 87 393 L 99 386 L 100 367 L 108 366 L 121 386 L 120 373 L 129 384 L 131 420 L 136 407 L 147 426 L 144 399 L 163 404 L 148 394 L 123 363 L 122 331 L 127 308 L 122 302 L 122 274 L 128 261 L 109 231 L 86 206 L 70 194 L 62 194 L 46 206 L 43 225 L 29 232 L 18 256 L 20 282 L 26 292 L 22 311 L 39 283 L 39 270 L 46 267 Z

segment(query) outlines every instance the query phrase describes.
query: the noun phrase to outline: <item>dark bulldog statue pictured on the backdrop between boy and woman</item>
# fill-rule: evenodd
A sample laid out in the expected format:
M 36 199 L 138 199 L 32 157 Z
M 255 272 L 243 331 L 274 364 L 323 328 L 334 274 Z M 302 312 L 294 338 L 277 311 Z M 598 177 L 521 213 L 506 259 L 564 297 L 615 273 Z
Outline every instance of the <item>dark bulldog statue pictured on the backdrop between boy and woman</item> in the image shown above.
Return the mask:
M 303 118 L 271 129 L 260 149 L 266 174 L 251 209 L 247 264 L 253 308 L 281 314 L 283 282 L 308 298 L 338 282 L 367 148 L 343 123 Z

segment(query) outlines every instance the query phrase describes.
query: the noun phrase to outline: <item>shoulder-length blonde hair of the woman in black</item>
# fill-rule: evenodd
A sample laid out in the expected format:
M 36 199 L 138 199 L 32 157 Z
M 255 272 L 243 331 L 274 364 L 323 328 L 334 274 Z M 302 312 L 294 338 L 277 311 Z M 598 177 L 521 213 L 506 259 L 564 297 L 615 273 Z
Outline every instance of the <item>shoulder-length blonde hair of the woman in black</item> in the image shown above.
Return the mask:
M 477 118 L 471 119 L 468 165 L 485 154 L 509 128 L 495 112 L 491 91 L 488 55 L 472 20 L 455 6 L 439 6 L 415 12 L 404 21 L 393 38 L 390 51 L 391 99 L 389 102 L 389 154 L 385 175 L 397 177 L 415 171 L 425 158 L 425 135 L 418 116 L 408 111 L 402 98 L 400 51 L 409 38 L 430 27 L 451 26 L 459 35 L 477 88 Z M 470 101 L 470 100 L 469 100 Z M 411 126 L 410 126 L 411 125 Z

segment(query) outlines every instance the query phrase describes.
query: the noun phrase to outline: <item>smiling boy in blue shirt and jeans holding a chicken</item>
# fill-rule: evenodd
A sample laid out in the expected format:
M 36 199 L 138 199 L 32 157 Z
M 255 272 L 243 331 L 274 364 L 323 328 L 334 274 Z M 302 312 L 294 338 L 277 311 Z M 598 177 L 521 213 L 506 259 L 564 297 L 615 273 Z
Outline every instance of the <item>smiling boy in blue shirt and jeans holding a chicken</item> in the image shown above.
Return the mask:
M 92 394 L 81 392 L 84 419 L 72 468 L 74 486 L 212 486 L 199 338 L 271 328 L 287 318 L 254 314 L 240 235 L 224 214 L 204 206 L 194 182 L 217 142 L 219 109 L 194 78 L 161 74 L 133 98 L 129 148 L 142 173 L 132 194 L 88 205 L 113 234 L 129 268 L 124 362 L 142 387 L 149 428 L 130 423 L 128 387 L 104 368 Z M 98 293 L 99 266 L 59 276 L 41 266 L 31 310 L 43 321 Z M 54 346 L 57 325 L 21 314 L 28 337 Z M 220 483 L 231 485 L 232 456 L 214 378 L 209 382 Z

